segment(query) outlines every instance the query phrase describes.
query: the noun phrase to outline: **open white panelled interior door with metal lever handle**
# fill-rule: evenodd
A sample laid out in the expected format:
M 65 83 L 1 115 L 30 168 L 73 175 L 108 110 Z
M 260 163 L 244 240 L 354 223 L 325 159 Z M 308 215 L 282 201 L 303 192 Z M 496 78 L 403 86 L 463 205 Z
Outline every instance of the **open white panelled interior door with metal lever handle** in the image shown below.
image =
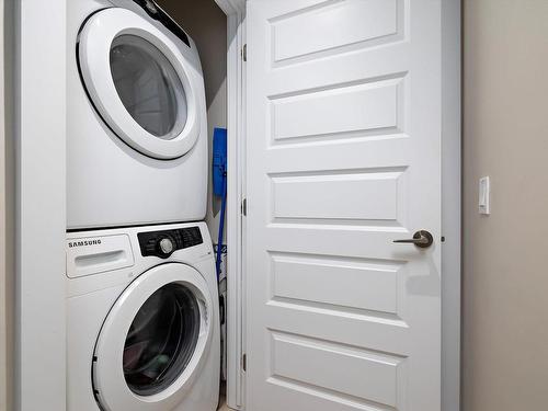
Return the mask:
M 248 1 L 250 411 L 441 409 L 441 1 Z

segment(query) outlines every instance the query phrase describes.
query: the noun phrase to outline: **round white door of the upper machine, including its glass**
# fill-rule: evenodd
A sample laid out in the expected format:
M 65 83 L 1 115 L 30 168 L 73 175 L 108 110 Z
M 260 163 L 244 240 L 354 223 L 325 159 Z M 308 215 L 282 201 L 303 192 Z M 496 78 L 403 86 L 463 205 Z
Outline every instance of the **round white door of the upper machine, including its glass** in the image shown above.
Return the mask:
M 157 159 L 184 156 L 199 135 L 202 71 L 180 47 L 186 46 L 122 8 L 93 14 L 78 39 L 80 72 L 96 111 L 127 145 Z

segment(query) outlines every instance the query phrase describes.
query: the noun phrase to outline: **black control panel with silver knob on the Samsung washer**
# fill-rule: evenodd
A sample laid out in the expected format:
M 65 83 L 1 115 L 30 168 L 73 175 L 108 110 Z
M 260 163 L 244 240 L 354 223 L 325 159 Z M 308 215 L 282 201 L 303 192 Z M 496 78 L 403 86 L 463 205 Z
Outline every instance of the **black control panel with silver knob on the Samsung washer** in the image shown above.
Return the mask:
M 155 255 L 160 259 L 169 258 L 176 250 L 198 246 L 204 242 L 199 227 L 139 232 L 137 238 L 142 256 Z

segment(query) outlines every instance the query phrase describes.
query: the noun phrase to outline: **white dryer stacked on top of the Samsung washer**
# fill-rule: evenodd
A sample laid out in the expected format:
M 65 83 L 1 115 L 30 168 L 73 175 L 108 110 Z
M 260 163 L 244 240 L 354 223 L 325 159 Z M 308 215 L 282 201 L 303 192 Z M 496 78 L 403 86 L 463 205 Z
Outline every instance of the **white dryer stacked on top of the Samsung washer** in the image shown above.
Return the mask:
M 207 119 L 196 45 L 151 0 L 68 8 L 68 228 L 201 220 Z

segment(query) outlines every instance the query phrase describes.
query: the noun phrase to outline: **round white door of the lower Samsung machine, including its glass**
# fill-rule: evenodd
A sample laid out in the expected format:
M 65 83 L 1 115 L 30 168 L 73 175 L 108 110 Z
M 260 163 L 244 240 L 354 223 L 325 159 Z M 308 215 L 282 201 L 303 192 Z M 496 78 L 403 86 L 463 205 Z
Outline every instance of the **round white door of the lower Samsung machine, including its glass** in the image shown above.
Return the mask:
M 204 277 L 168 263 L 141 274 L 119 296 L 92 358 L 104 410 L 164 411 L 179 404 L 210 349 L 213 304 Z

